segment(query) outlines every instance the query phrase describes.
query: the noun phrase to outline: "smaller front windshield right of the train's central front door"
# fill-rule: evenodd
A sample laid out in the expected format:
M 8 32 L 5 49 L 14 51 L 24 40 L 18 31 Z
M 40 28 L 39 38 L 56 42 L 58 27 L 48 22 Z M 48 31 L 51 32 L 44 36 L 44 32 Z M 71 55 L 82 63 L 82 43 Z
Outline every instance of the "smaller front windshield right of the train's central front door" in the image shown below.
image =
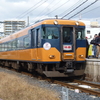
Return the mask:
M 85 39 L 85 29 L 84 28 L 76 28 L 76 39 L 82 40 Z

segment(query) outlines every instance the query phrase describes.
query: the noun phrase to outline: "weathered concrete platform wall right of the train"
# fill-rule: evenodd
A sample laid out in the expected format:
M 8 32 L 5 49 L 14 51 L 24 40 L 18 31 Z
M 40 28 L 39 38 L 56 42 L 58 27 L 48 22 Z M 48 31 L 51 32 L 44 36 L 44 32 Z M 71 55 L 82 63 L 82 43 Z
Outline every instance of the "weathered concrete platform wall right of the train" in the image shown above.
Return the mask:
M 86 80 L 100 82 L 100 58 L 86 59 L 85 74 Z

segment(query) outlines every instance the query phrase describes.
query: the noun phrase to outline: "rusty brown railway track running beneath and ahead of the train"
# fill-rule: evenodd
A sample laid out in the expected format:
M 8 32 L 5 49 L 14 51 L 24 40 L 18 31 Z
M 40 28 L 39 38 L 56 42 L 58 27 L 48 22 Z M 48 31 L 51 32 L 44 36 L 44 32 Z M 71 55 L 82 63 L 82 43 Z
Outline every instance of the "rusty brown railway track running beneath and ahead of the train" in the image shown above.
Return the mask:
M 4 67 L 2 67 L 2 68 L 4 68 Z M 9 68 L 7 68 L 7 69 L 9 69 Z M 14 69 L 11 69 L 11 70 L 16 71 Z M 98 85 L 98 84 L 93 84 L 93 83 L 90 83 L 90 82 L 84 82 L 84 81 L 80 81 L 80 80 L 74 80 L 72 82 L 72 84 L 70 84 L 70 83 L 65 83 L 65 82 L 62 82 L 62 81 L 53 80 L 53 79 L 46 78 L 46 77 L 41 77 L 39 75 L 36 76 L 36 75 L 31 74 L 31 73 L 27 73 L 27 72 L 23 72 L 23 71 L 21 71 L 19 73 L 24 74 L 24 75 L 28 75 L 30 77 L 36 77 L 38 79 L 45 80 L 45 81 L 48 81 L 48 82 L 53 83 L 53 84 L 59 84 L 61 86 L 67 87 L 67 88 L 79 89 L 79 91 L 81 91 L 81 92 L 85 92 L 85 93 L 100 97 L 100 91 L 92 90 L 91 88 L 83 88 L 83 87 L 80 87 L 79 85 L 73 85 L 73 83 L 84 84 L 84 85 L 88 85 L 88 86 L 100 89 L 100 85 Z

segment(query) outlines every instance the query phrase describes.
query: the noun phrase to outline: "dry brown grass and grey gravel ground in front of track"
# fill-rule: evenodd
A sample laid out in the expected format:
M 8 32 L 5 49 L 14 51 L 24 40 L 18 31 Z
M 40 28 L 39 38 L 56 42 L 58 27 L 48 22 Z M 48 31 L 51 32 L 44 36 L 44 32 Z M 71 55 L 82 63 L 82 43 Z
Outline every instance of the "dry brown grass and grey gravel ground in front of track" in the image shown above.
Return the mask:
M 2 100 L 62 100 L 62 87 L 44 80 L 0 68 L 0 99 Z M 69 100 L 100 100 L 86 93 L 69 89 Z

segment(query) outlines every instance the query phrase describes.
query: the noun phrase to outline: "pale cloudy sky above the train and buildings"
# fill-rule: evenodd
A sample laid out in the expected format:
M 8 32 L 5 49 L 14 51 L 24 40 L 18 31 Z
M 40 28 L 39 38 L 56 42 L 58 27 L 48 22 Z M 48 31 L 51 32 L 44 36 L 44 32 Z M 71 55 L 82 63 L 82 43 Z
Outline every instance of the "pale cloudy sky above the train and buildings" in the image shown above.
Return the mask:
M 93 19 L 100 21 L 100 0 L 86 10 L 85 7 L 96 0 L 0 0 L 0 21 L 4 20 L 25 20 L 29 16 L 30 23 L 43 18 L 51 18 L 58 15 L 59 18 L 68 14 L 65 19 Z M 82 3 L 84 4 L 82 5 Z

